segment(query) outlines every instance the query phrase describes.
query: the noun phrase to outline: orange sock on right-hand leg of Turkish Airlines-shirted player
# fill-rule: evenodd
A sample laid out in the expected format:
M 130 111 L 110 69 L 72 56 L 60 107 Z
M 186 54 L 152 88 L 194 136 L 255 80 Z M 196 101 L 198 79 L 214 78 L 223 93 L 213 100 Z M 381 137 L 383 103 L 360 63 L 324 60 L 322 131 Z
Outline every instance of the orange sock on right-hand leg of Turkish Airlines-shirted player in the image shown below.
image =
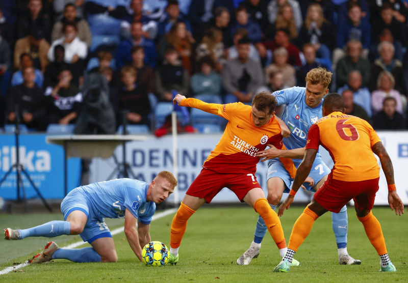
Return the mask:
M 266 199 L 258 199 L 253 204 L 253 209 L 261 215 L 262 219 L 264 219 L 266 228 L 268 228 L 278 249 L 286 248 L 285 235 L 282 229 L 281 220 L 279 220 L 276 212 L 271 209 L 268 201 Z

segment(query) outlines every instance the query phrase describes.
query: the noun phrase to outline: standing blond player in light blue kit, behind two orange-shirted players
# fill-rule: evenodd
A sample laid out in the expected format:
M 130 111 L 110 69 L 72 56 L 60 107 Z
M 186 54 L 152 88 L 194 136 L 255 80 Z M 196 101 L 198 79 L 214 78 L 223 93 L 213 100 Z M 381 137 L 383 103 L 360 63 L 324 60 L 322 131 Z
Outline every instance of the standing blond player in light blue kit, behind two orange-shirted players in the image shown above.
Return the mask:
M 307 144 L 309 128 L 317 120 L 322 118 L 323 97 L 328 93 L 328 85 L 331 81 L 331 72 L 323 68 L 315 68 L 309 71 L 306 76 L 306 87 L 293 87 L 282 91 L 276 91 L 278 105 L 285 105 L 282 113 L 281 126 L 289 128 L 288 134 L 284 135 L 283 143 L 287 150 L 278 150 L 272 145 L 265 151 L 258 153 L 262 161 L 268 160 L 268 202 L 273 210 L 282 199 L 284 192 L 289 193 L 290 184 L 293 179 L 286 171 L 279 157 L 293 158 L 296 168 L 302 161 Z M 296 160 L 298 159 L 298 160 Z M 302 187 L 315 192 L 324 181 L 330 169 L 324 164 L 319 153 L 313 162 L 312 171 Z M 340 213 L 331 214 L 331 224 L 336 236 L 336 243 L 339 255 L 339 264 L 361 264 L 361 261 L 354 260 L 347 252 L 347 208 L 344 206 Z M 266 233 L 266 226 L 262 217 L 258 218 L 254 239 L 250 247 L 238 258 L 237 264 L 248 265 L 252 259 L 257 258 L 261 248 L 262 239 Z M 284 255 L 281 254 L 281 258 Z M 292 265 L 299 265 L 298 261 L 292 261 Z

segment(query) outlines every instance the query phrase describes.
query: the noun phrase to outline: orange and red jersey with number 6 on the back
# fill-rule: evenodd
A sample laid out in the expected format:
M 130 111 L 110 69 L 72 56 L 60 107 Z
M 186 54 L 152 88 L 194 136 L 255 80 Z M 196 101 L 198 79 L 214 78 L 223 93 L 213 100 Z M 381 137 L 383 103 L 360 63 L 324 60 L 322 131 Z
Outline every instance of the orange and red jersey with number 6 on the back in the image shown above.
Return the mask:
M 334 161 L 333 179 L 348 182 L 379 177 L 379 166 L 371 148 L 381 141 L 371 125 L 358 117 L 333 112 L 313 124 L 306 149 L 322 145 Z

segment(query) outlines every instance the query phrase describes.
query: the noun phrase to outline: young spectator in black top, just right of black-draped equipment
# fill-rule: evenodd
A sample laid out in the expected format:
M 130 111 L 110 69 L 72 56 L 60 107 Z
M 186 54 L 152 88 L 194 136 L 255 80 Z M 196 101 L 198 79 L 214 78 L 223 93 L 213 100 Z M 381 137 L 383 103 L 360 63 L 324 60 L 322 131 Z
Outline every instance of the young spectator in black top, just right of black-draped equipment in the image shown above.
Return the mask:
M 136 83 L 137 71 L 124 66 L 120 71 L 123 88 L 119 91 L 119 109 L 127 110 L 126 119 L 132 125 L 149 125 L 150 102 L 147 90 Z

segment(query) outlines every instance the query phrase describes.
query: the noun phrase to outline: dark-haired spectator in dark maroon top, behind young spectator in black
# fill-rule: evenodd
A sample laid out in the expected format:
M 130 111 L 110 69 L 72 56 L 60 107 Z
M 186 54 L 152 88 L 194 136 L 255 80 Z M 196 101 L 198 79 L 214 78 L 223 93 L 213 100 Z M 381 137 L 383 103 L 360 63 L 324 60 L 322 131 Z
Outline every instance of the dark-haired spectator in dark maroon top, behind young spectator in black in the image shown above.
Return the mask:
M 144 64 L 144 49 L 141 46 L 133 46 L 131 49 L 132 67 L 137 71 L 137 82 L 150 94 L 155 93 L 155 71 Z

